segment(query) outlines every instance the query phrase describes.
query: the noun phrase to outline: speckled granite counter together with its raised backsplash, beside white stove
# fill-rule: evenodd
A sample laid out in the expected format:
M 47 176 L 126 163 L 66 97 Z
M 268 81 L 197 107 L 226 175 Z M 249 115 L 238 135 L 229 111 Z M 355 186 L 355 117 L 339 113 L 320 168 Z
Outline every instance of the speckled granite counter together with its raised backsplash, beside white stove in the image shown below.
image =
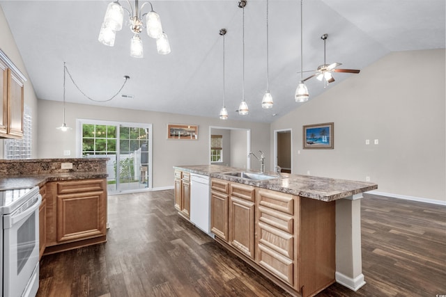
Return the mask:
M 0 160 L 0 190 L 43 186 L 46 182 L 106 178 L 107 158 Z M 72 163 L 61 169 L 61 163 Z

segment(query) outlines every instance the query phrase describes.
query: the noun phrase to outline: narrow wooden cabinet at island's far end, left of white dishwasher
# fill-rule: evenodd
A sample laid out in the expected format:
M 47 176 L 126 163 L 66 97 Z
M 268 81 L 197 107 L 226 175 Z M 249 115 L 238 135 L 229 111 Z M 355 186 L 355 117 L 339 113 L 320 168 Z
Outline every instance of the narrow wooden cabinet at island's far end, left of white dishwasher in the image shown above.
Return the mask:
M 181 170 L 174 172 L 175 208 L 186 218 L 190 218 L 190 173 Z

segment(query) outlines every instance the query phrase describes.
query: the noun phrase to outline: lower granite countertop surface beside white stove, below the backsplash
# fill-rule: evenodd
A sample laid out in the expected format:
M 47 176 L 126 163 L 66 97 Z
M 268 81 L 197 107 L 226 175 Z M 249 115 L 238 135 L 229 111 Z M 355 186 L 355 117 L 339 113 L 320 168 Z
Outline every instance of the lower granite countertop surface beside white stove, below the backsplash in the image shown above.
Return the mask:
M 31 186 L 43 186 L 46 182 L 57 182 L 74 179 L 106 178 L 105 172 L 63 172 L 47 173 L 42 175 L 13 175 L 0 177 L 0 191 L 10 188 L 30 188 Z

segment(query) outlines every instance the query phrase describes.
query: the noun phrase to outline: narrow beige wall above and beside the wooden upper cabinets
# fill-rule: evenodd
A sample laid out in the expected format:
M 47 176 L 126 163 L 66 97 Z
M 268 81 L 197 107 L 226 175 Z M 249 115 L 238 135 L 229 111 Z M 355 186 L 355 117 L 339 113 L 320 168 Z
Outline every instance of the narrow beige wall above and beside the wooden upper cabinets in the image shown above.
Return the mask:
M 29 106 L 32 112 L 33 117 L 33 127 L 36 127 L 36 122 L 38 120 L 37 113 L 37 97 L 36 93 L 34 93 L 34 88 L 29 80 L 28 73 L 26 72 L 26 67 L 22 61 L 22 56 L 20 56 L 19 49 L 17 49 L 17 45 L 15 44 L 15 40 L 13 34 L 9 29 L 8 22 L 6 22 L 6 17 L 3 14 L 3 10 L 0 6 L 0 49 L 3 53 L 8 56 L 10 61 L 14 63 L 14 65 L 24 74 L 27 81 L 24 83 L 24 104 Z M 38 132 L 36 129 L 33 130 L 33 144 L 32 144 L 32 154 L 36 156 L 37 152 L 37 140 L 38 140 Z M 3 140 L 0 140 L 0 159 L 3 159 Z

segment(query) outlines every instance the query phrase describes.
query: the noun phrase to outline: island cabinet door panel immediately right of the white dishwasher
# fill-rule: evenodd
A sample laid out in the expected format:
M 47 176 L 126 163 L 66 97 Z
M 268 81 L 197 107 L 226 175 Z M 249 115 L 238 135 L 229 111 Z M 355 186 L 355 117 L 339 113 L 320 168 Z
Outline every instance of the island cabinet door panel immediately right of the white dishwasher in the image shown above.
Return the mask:
M 210 231 L 228 241 L 228 200 L 229 196 L 217 191 L 210 194 Z

